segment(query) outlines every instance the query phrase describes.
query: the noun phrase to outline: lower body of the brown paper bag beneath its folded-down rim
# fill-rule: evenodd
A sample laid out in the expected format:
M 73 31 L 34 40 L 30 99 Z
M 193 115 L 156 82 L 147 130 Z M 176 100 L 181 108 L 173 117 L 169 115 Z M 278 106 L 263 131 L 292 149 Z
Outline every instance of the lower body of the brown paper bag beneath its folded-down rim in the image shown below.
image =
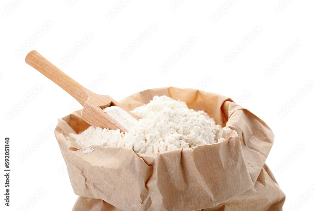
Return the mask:
M 284 194 L 277 185 L 276 180 L 268 175 L 265 164 L 255 185 L 248 191 L 236 196 L 214 208 L 203 211 L 255 211 L 255 210 L 282 210 Z M 272 173 L 270 172 L 270 175 Z M 267 186 L 266 186 L 267 184 Z M 78 197 L 72 211 L 121 211 L 101 199 Z

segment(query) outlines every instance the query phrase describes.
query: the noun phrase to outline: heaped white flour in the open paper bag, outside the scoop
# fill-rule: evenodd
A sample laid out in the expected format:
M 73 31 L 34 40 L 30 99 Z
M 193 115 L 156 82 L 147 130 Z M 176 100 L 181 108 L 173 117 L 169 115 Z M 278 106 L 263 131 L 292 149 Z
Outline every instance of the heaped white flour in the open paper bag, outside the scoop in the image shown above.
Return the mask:
M 124 124 L 129 124 L 129 132 L 125 135 L 120 130 L 92 126 L 81 134 L 69 135 L 83 148 L 93 145 L 132 147 L 137 153 L 153 155 L 225 140 L 221 138 L 221 126 L 216 125 L 207 113 L 189 109 L 186 103 L 170 97 L 155 96 L 147 105 L 135 108 L 132 113 L 141 119 L 136 124 L 125 121 Z

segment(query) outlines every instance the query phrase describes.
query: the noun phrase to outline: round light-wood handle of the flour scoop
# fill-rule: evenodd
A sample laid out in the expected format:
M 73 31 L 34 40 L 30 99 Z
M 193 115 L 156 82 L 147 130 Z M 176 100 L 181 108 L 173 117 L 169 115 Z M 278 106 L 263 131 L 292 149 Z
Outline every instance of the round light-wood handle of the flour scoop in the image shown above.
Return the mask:
M 92 93 L 87 88 L 74 81 L 70 76 L 62 72 L 36 50 L 30 51 L 26 55 L 25 62 L 41 72 L 41 74 L 45 75 L 51 81 L 55 82 L 64 91 L 68 92 L 82 106 L 85 105 L 89 94 Z

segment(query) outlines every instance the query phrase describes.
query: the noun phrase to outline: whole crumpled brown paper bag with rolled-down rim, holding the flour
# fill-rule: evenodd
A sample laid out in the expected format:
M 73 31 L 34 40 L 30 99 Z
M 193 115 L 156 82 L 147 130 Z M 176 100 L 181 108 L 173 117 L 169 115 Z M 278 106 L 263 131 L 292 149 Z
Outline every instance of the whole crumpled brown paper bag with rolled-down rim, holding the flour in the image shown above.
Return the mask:
M 155 156 L 105 146 L 84 154 L 68 134 L 89 124 L 81 111 L 73 112 L 55 130 L 74 193 L 81 196 L 73 210 L 82 200 L 82 210 L 282 210 L 285 195 L 265 164 L 274 135 L 261 119 L 230 98 L 195 89 L 150 89 L 120 103 L 133 110 L 155 95 L 204 110 L 232 132 L 223 134 L 224 142 Z

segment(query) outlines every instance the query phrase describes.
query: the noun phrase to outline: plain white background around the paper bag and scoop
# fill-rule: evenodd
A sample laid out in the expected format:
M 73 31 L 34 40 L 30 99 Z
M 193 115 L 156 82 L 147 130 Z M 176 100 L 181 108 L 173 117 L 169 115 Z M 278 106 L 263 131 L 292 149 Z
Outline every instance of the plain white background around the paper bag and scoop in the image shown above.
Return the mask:
M 32 49 L 53 64 L 61 64 L 74 50 L 62 71 L 85 87 L 97 85 L 94 92 L 116 100 L 165 86 L 198 87 L 231 97 L 263 119 L 275 134 L 266 163 L 277 171 L 276 179 L 286 194 L 284 210 L 295 210 L 298 202 L 297 210 L 313 209 L 314 193 L 309 191 L 314 190 L 314 88 L 306 88 L 314 79 L 313 1 L 285 0 L 286 5 L 276 9 L 279 0 L 189 0 L 175 8 L 171 5 L 175 0 L 132 0 L 110 19 L 108 14 L 121 0 L 78 0 L 71 4 L 67 0 L 29 0 L 16 1 L 16 6 L 13 2 L 3 0 L 0 5 L 0 170 L 4 169 L 7 136 L 12 169 L 9 208 L 3 205 L 3 173 L 0 176 L 1 210 L 21 210 L 24 206 L 29 210 L 71 210 L 77 198 L 49 127 L 82 106 L 75 106 L 68 93 L 25 64 L 24 58 Z M 230 7 L 224 8 L 227 3 Z M 221 15 L 213 20 L 216 12 Z M 156 25 L 154 30 L 151 24 Z M 143 40 L 141 34 L 149 28 L 151 32 Z M 251 34 L 255 28 L 259 32 Z M 86 34 L 92 38 L 78 50 L 76 45 Z M 182 54 L 180 48 L 191 37 L 196 41 Z M 35 41 L 30 43 L 32 38 Z M 137 40 L 140 44 L 123 60 L 121 54 Z M 295 41 L 300 44 L 293 49 Z M 241 51 L 227 63 L 226 57 L 240 45 Z M 287 53 L 290 47 L 291 53 Z M 180 58 L 161 71 L 176 53 Z M 281 64 L 266 74 L 280 57 Z M 99 79 L 100 75 L 106 80 Z M 306 94 L 300 94 L 301 90 Z M 297 102 L 287 106 L 294 98 Z M 22 101 L 24 106 L 14 109 Z M 289 109 L 280 115 L 284 106 Z M 10 115 L 11 110 L 16 113 Z M 42 134 L 45 139 L 41 142 Z M 35 142 L 39 146 L 31 150 Z M 30 153 L 22 159 L 27 151 Z M 29 203 L 41 189 L 44 194 L 34 204 Z M 303 194 L 308 194 L 308 199 L 302 200 Z

